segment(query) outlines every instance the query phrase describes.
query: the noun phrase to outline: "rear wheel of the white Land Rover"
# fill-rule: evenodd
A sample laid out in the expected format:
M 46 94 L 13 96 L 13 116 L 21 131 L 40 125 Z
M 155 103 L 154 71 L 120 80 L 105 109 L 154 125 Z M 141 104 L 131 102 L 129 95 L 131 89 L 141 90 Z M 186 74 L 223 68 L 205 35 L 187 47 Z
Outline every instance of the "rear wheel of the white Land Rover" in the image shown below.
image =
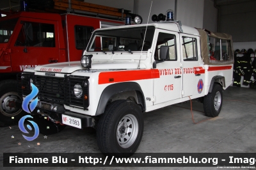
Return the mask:
M 222 107 L 222 88 L 220 84 L 214 84 L 212 92 L 204 97 L 205 116 L 216 117 Z

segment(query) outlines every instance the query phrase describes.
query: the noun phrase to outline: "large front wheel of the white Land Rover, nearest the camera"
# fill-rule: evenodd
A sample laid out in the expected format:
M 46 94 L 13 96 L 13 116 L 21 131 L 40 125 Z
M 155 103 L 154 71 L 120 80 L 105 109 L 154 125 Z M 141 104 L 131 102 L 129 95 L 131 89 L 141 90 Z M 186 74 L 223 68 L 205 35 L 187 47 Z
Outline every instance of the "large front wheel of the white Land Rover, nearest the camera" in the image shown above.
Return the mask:
M 100 151 L 106 155 L 130 157 L 140 145 L 143 128 L 143 115 L 136 103 L 130 100 L 112 102 L 97 125 Z

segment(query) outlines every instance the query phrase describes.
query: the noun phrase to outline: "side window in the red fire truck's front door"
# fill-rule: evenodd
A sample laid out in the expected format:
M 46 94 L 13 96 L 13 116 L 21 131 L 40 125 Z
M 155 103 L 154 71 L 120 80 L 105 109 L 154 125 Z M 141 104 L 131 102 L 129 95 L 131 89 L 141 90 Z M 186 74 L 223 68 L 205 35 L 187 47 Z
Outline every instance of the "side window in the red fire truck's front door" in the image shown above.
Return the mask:
M 24 22 L 15 46 L 55 47 L 53 24 Z

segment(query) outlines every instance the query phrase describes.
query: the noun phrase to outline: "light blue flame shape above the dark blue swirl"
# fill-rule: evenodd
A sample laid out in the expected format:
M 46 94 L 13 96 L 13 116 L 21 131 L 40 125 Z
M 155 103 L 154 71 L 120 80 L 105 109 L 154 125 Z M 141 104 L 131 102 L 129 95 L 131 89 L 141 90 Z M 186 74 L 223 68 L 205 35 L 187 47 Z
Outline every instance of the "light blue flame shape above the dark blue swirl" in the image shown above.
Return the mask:
M 24 98 L 24 100 L 22 102 L 22 109 L 28 113 L 31 113 L 34 111 L 34 109 L 36 108 L 37 102 L 38 102 L 38 98 L 36 97 L 36 95 L 38 93 L 38 88 L 36 88 L 36 86 L 32 82 L 30 82 L 30 85 L 32 87 L 32 91 L 27 97 Z M 36 97 L 35 100 L 33 100 L 33 102 L 31 102 L 31 104 L 29 105 L 29 108 L 28 108 L 29 102 L 34 97 Z

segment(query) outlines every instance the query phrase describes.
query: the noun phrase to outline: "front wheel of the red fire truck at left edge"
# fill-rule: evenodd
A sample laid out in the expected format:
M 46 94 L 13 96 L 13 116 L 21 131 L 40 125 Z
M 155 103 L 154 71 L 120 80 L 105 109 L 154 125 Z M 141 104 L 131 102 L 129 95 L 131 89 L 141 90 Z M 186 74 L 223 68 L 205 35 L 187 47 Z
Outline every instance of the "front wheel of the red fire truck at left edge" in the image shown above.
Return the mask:
M 22 100 L 17 93 L 17 81 L 0 81 L 0 122 L 4 126 L 19 122 L 26 114 L 22 109 L 15 107 L 16 100 Z

